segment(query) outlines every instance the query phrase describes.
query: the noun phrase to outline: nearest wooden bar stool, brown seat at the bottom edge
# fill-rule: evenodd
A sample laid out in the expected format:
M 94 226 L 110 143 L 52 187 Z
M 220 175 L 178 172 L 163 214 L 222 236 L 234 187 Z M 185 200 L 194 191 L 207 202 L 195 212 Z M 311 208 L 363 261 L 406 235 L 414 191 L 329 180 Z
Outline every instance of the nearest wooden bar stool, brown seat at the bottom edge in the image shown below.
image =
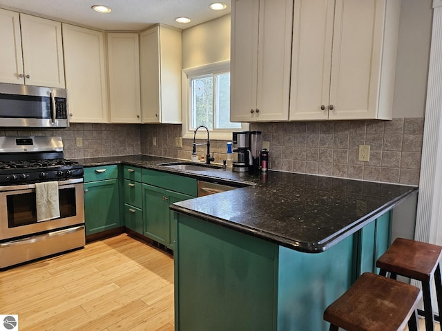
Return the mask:
M 324 312 L 330 331 L 418 330 L 417 305 L 422 291 L 416 286 L 365 272 Z

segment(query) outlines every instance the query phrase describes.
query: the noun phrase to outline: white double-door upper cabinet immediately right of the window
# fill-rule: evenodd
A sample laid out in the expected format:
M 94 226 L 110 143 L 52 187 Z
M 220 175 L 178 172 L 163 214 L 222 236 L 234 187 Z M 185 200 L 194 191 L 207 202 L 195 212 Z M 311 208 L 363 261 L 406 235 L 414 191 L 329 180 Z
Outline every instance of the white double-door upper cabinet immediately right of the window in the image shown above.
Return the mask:
M 289 119 L 293 0 L 233 0 L 233 122 Z

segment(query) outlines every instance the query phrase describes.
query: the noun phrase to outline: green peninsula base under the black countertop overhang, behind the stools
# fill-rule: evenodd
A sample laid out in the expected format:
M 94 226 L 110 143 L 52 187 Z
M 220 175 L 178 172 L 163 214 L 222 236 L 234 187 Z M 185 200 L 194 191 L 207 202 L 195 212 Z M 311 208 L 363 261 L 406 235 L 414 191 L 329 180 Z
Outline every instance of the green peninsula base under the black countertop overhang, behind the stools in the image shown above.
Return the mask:
M 175 214 L 175 330 L 327 331 L 327 306 L 374 272 L 387 212 L 325 252 L 303 253 Z

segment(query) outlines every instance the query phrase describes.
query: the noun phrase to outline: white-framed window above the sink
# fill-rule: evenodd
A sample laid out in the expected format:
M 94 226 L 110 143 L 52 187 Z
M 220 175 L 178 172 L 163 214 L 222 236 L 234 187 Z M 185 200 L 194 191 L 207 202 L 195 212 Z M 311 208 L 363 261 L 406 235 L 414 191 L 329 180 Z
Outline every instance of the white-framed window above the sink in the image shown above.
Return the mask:
M 209 128 L 211 139 L 231 140 L 231 132 L 248 130 L 248 123 L 230 121 L 229 70 L 229 61 L 184 70 L 184 138 L 193 138 L 193 132 L 198 126 Z M 198 138 L 204 137 L 204 132 L 198 131 Z

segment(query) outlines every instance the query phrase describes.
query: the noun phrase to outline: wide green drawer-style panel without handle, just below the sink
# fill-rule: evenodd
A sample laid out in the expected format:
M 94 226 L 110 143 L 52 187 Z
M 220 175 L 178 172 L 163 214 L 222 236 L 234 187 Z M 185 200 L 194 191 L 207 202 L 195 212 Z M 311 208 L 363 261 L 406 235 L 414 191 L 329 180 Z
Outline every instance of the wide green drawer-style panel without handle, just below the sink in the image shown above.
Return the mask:
M 197 196 L 197 184 L 194 178 L 149 169 L 143 169 L 142 174 L 143 183 L 165 188 L 166 190 L 189 194 L 192 197 Z

